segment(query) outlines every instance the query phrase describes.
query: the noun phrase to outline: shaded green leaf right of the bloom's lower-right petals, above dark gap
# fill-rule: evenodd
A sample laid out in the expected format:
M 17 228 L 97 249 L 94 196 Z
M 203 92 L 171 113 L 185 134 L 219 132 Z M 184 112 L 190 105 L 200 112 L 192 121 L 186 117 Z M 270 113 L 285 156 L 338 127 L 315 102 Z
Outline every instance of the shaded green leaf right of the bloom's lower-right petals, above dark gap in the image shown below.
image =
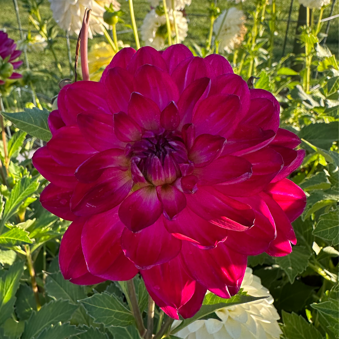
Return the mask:
M 288 280 L 293 284 L 296 276 L 301 274 L 308 265 L 312 252 L 304 246 L 294 246 L 290 254 L 275 258 L 276 263 L 286 272 Z

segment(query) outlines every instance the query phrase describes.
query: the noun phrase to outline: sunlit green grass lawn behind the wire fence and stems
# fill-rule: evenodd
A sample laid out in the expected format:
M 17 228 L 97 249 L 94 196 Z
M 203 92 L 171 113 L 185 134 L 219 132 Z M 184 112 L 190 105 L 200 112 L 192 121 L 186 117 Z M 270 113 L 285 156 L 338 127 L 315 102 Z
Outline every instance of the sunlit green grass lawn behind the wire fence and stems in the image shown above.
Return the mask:
M 120 0 L 121 8 L 125 12 L 128 12 L 128 2 L 124 0 Z M 28 23 L 28 13 L 26 8 L 23 7 L 21 0 L 18 0 L 19 3 L 19 12 L 21 18 L 21 24 L 23 30 L 27 31 L 28 29 L 32 30 L 32 34 L 36 34 L 34 31 L 34 27 Z M 286 22 L 288 18 L 288 11 L 290 9 L 291 0 L 277 0 L 277 12 L 278 12 L 278 23 L 277 23 L 277 32 L 278 36 L 275 40 L 275 56 L 277 59 L 281 57 L 282 45 L 285 37 L 286 31 Z M 186 45 L 192 45 L 193 42 L 198 45 L 203 46 L 205 44 L 205 40 L 208 34 L 209 27 L 209 18 L 207 17 L 207 7 L 209 3 L 206 0 L 192 0 L 192 4 L 190 6 L 186 6 L 185 13 L 188 19 L 188 36 L 185 39 L 184 43 Z M 232 3 L 227 0 L 218 0 L 218 6 L 223 10 L 224 8 L 228 8 L 232 6 Z M 149 11 L 149 3 L 147 0 L 134 0 L 135 7 L 135 15 L 138 27 L 141 26 L 143 18 L 146 13 Z M 292 22 L 290 24 L 290 29 L 288 31 L 288 40 L 286 45 L 286 53 L 292 52 L 294 34 L 296 28 L 296 20 L 298 18 L 298 8 L 299 3 L 298 0 L 294 0 L 293 4 L 293 12 L 292 12 Z M 254 9 L 254 1 L 247 0 L 243 4 L 243 10 L 246 12 L 250 12 Z M 41 6 L 41 16 L 43 18 L 52 17 L 52 12 L 49 9 L 49 2 L 47 0 L 43 0 L 43 4 Z M 339 1 L 337 1 L 334 14 L 339 13 Z M 330 8 L 327 8 L 324 13 L 324 18 L 328 17 L 330 14 Z M 317 14 L 316 14 L 317 15 Z M 125 16 L 125 22 L 127 24 L 130 23 L 130 18 L 128 15 Z M 315 21 L 317 18 L 315 17 Z M 18 31 L 17 19 L 14 11 L 13 1 L 12 0 L 1 0 L 1 14 L 0 14 L 0 29 L 5 29 L 8 33 L 9 37 L 14 40 L 20 39 L 20 34 Z M 326 29 L 326 24 L 323 26 L 323 31 Z M 118 24 L 118 31 L 126 30 L 122 24 Z M 71 51 L 72 57 L 74 59 L 75 54 L 75 45 L 76 45 L 75 36 L 71 37 Z M 123 33 L 118 35 L 118 39 L 123 40 L 125 43 L 129 43 L 131 46 L 135 46 L 133 33 Z M 105 41 L 105 38 L 102 36 L 95 36 L 93 40 L 89 41 L 89 47 L 92 44 Z M 339 18 L 332 20 L 331 29 L 329 33 L 329 37 L 327 39 L 327 45 L 331 49 L 333 53 L 339 53 Z M 60 30 L 57 42 L 55 44 L 55 52 L 56 56 L 62 67 L 62 75 L 57 71 L 55 61 L 51 51 L 46 50 L 44 52 L 30 52 L 28 53 L 29 65 L 32 70 L 37 71 L 37 76 L 39 79 L 43 79 L 43 81 L 37 81 L 36 91 L 39 94 L 42 94 L 41 100 L 49 101 L 48 98 L 52 98 L 54 95 L 58 93 L 58 82 L 61 78 L 69 77 L 69 63 L 67 57 L 67 45 L 65 39 L 65 32 Z M 22 98 L 18 100 L 23 104 L 25 101 L 31 101 L 31 97 L 29 93 L 22 93 Z M 19 102 L 20 104 L 20 102 Z M 20 106 L 20 105 L 19 105 Z

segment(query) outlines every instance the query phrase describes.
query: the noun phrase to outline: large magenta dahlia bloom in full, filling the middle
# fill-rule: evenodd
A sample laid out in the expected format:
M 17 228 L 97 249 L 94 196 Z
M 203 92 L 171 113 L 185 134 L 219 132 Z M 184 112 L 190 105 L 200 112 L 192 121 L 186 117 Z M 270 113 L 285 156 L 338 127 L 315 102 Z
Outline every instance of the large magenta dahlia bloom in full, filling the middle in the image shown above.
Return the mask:
M 100 82 L 65 86 L 58 108 L 33 163 L 51 182 L 41 204 L 73 221 L 65 279 L 140 272 L 165 313 L 187 318 L 206 289 L 238 292 L 247 256 L 291 252 L 306 199 L 285 177 L 304 151 L 279 128 L 274 96 L 249 90 L 224 57 L 124 48 Z

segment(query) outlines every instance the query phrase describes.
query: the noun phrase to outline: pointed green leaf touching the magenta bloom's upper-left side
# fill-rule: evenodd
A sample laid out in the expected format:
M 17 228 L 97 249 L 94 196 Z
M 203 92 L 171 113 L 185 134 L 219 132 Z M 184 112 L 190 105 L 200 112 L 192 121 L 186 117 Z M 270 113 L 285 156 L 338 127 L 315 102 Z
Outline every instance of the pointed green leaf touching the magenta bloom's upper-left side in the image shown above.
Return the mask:
M 47 123 L 49 112 L 45 108 L 39 110 L 37 107 L 32 109 L 25 108 L 24 110 L 24 112 L 17 113 L 1 112 L 1 115 L 20 130 L 41 140 L 49 141 L 52 138 L 52 133 L 49 131 Z

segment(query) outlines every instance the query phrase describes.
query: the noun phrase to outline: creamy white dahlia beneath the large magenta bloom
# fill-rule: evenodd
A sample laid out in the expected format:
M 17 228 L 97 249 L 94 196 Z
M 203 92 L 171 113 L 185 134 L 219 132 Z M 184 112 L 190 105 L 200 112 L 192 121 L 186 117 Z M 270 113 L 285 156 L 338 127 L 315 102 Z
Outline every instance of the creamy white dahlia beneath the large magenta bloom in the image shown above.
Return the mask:
M 282 334 L 280 318 L 272 305 L 273 298 L 260 278 L 247 267 L 241 287 L 253 297 L 266 297 L 246 304 L 225 307 L 216 312 L 222 320 L 197 320 L 176 335 L 184 339 L 274 339 Z M 174 326 L 177 326 L 176 322 Z

